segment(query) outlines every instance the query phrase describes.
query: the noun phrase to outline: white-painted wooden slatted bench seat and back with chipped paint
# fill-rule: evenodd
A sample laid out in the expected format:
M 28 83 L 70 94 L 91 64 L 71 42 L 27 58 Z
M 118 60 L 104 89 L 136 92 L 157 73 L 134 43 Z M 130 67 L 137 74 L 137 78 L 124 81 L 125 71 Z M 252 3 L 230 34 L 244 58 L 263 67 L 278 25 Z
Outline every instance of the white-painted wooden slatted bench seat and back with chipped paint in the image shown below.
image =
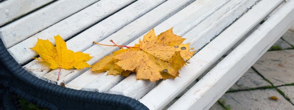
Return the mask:
M 14 59 L 38 78 L 76 90 L 121 94 L 137 99 L 149 109 L 163 109 L 207 68 L 231 49 L 284 0 L 52 0 L 0 2 L 0 36 Z M 38 4 L 36 4 L 38 3 Z M 50 3 L 47 5 L 47 3 Z M 34 4 L 34 5 L 30 5 Z M 45 5 L 31 12 L 32 10 Z M 23 5 L 23 6 L 22 6 Z M 13 8 L 19 7 L 19 8 Z M 28 8 L 29 7 L 29 8 Z M 21 13 L 19 12 L 21 11 Z M 16 13 L 17 12 L 17 13 Z M 5 15 L 4 15 L 4 14 Z M 26 16 L 17 18 L 26 13 Z M 11 15 L 13 14 L 13 15 Z M 13 19 L 15 21 L 10 22 Z M 258 27 L 248 38 L 199 80 L 169 109 L 209 109 L 253 63 L 294 24 L 294 0 Z M 189 59 L 180 77 L 136 80 L 95 73 L 90 68 L 51 70 L 45 63 L 31 59 L 38 54 L 29 49 L 37 38 L 55 42 L 60 35 L 68 49 L 93 56 L 87 63 L 118 50 L 108 44 L 133 46 L 154 27 L 156 35 L 173 27 L 173 32 L 198 51 Z

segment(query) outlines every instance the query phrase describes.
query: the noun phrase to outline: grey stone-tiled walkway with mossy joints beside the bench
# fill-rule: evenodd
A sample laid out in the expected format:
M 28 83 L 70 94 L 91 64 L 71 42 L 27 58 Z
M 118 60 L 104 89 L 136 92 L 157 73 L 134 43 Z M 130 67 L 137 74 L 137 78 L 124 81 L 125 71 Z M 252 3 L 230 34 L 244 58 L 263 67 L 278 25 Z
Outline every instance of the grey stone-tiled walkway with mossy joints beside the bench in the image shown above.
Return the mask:
M 293 27 L 210 110 L 294 110 Z

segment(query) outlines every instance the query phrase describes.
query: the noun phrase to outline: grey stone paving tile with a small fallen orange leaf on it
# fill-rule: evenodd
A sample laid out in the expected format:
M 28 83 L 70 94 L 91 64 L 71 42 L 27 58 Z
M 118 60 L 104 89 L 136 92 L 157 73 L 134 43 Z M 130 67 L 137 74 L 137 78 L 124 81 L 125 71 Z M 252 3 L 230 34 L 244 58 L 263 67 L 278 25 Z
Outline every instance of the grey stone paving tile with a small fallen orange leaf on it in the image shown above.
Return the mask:
M 278 100 L 269 99 L 272 96 Z M 231 92 L 220 100 L 226 100 L 225 104 L 232 110 L 294 110 L 294 106 L 275 89 Z

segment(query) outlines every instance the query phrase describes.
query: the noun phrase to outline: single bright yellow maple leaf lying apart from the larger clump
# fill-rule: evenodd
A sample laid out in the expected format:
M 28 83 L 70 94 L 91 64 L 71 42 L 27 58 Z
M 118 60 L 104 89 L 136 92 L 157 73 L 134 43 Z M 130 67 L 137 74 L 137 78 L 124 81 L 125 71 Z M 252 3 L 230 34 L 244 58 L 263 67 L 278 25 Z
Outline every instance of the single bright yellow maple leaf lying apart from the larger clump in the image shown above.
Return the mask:
M 48 62 L 50 64 L 49 68 L 51 69 L 81 69 L 85 67 L 91 67 L 88 63 L 85 62 L 92 58 L 91 56 L 89 56 L 89 54 L 85 54 L 80 51 L 74 52 L 68 50 L 66 47 L 66 43 L 59 35 L 54 36 L 54 39 L 56 42 L 56 47 L 48 39 L 42 40 L 38 38 L 36 46 L 30 49 L 35 50 L 40 55 L 41 59 L 33 59 Z M 59 76 L 57 80 L 59 80 Z

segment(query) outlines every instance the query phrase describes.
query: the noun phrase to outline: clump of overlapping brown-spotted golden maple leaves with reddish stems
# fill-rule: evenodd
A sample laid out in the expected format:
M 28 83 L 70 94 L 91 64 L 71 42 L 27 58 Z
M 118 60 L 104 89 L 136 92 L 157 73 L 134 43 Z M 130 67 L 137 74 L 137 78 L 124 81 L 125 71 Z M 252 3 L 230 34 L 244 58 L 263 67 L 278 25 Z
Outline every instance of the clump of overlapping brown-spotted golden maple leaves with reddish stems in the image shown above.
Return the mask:
M 195 52 L 189 51 L 189 44 L 182 44 L 184 40 L 181 36 L 173 34 L 172 28 L 158 36 L 152 29 L 147 35 L 144 35 L 142 41 L 139 40 L 139 44 L 131 49 L 118 50 L 116 53 L 105 56 L 98 63 L 95 63 L 91 70 L 98 72 L 115 71 L 112 72 L 113 75 L 121 74 L 123 76 L 136 72 L 137 79 L 146 79 L 152 82 L 159 79 L 174 79 L 178 77 L 178 71 L 185 65 L 184 59 L 190 59 Z M 116 44 L 107 46 L 127 47 Z M 109 63 L 112 63 L 112 65 L 108 65 Z M 114 65 L 116 68 L 111 68 Z M 120 70 L 117 71 L 117 68 Z

